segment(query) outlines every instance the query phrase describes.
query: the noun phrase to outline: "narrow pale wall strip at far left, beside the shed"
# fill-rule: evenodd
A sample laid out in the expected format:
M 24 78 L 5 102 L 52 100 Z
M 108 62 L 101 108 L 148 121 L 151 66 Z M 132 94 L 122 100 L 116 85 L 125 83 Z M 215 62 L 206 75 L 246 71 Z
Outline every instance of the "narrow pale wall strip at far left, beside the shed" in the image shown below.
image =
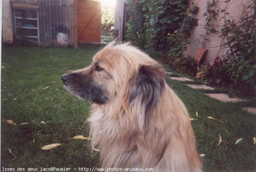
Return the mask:
M 3 43 L 13 42 L 13 20 L 10 0 L 2 1 L 2 39 Z

